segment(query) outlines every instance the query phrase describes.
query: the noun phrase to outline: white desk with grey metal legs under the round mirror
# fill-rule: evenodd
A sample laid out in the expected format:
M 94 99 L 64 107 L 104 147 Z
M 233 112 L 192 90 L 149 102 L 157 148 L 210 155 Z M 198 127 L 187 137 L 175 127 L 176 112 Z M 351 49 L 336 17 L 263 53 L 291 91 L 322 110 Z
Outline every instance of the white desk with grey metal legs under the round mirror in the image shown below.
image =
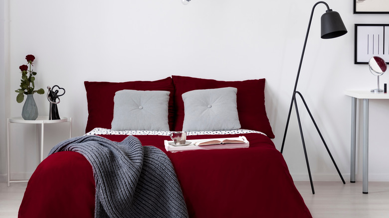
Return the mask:
M 369 99 L 389 99 L 388 94 L 370 91 L 345 91 L 351 100 L 351 171 L 350 182 L 355 183 L 355 144 L 357 125 L 357 99 L 363 99 L 363 185 L 362 193 L 368 194 L 369 183 Z

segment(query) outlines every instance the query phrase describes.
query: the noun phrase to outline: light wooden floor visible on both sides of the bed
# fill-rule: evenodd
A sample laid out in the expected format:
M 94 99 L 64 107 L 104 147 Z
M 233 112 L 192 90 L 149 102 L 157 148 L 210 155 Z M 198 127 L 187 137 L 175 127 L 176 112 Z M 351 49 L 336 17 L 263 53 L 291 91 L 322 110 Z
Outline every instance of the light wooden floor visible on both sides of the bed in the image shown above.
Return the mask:
M 17 218 L 27 183 L 0 183 L 0 218 Z M 362 182 L 295 182 L 314 218 L 389 218 L 389 182 L 369 182 L 369 194 L 362 194 Z M 282 210 L 282 205 L 280 205 Z

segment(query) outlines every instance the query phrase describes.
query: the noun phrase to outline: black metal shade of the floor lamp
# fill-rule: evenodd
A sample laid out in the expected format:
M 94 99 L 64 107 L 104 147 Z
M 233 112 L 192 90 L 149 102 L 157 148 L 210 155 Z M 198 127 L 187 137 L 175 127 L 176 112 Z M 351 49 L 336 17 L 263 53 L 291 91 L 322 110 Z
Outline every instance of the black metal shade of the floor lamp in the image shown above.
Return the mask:
M 329 9 L 322 15 L 322 39 L 332 39 L 347 33 L 339 13 Z

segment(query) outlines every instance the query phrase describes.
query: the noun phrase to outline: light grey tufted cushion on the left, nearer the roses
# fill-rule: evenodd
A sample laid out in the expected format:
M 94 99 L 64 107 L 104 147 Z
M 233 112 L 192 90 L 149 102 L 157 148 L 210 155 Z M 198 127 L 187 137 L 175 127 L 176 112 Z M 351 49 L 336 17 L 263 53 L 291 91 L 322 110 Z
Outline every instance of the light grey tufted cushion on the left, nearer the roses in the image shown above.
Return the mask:
M 168 91 L 116 92 L 112 130 L 169 131 L 169 94 Z

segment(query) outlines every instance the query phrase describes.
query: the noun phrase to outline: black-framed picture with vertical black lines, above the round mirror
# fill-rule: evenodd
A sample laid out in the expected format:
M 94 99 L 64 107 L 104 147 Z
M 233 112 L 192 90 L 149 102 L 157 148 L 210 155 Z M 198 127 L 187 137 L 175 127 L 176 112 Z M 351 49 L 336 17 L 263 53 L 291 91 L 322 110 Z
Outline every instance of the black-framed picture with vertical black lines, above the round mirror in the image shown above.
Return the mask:
M 378 56 L 389 64 L 389 24 L 355 24 L 354 64 Z

